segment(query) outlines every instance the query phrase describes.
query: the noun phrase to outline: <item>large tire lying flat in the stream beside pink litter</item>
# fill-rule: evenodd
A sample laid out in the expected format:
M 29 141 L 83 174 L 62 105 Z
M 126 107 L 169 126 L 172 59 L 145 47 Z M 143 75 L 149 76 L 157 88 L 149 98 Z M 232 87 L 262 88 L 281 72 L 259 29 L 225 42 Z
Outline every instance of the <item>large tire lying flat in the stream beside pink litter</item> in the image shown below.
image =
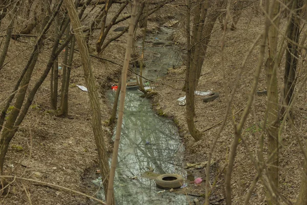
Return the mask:
M 162 189 L 178 189 L 183 186 L 183 177 L 179 174 L 162 174 L 156 178 L 156 185 Z

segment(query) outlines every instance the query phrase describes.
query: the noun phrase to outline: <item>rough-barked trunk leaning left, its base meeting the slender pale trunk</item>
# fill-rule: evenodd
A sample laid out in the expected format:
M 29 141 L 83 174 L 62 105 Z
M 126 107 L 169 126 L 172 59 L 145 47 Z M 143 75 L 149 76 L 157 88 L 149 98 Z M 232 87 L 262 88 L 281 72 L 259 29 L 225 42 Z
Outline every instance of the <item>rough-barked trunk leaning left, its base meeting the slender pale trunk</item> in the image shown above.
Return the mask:
M 89 51 L 87 50 L 86 42 L 84 39 L 84 34 L 82 31 L 81 23 L 77 15 L 77 11 L 74 7 L 72 0 L 64 0 L 65 7 L 67 8 L 68 14 L 71 19 L 71 24 L 73 26 L 73 30 L 76 36 L 76 40 L 78 43 L 80 56 L 82 60 L 82 66 L 84 71 L 84 78 L 87 88 L 89 89 L 89 97 L 91 103 L 91 109 L 93 112 L 93 132 L 96 141 L 97 151 L 98 151 L 98 158 L 100 162 L 100 170 L 101 176 L 103 181 L 103 187 L 106 200 L 111 201 L 110 204 L 115 204 L 114 193 L 108 193 L 107 185 L 108 185 L 108 174 L 109 174 L 109 166 L 108 166 L 108 156 L 106 153 L 105 142 L 103 138 L 103 132 L 101 128 L 101 113 L 100 113 L 100 105 L 99 105 L 99 98 L 97 94 L 97 88 L 95 86 L 95 79 L 93 76 L 92 68 L 91 68 L 91 61 Z

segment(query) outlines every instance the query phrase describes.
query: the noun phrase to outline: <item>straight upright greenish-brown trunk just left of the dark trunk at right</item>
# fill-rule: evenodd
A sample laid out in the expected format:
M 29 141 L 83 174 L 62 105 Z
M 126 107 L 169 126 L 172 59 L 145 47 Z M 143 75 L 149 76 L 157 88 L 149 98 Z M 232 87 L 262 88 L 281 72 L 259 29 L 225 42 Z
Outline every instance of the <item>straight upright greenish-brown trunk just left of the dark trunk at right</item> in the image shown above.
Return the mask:
M 272 0 L 270 5 L 273 8 L 272 15 L 273 19 L 276 15 L 279 15 L 279 2 Z M 268 9 L 267 9 L 268 10 Z M 274 20 L 274 24 L 279 27 L 279 17 Z M 278 84 L 277 84 L 277 71 L 274 69 L 274 64 L 277 63 L 277 40 L 278 40 L 278 29 L 273 25 L 269 27 L 268 34 L 268 52 L 267 60 L 265 64 L 266 76 L 267 76 L 267 89 L 268 89 L 268 178 L 272 187 L 278 190 L 278 127 L 279 127 L 279 108 L 278 108 Z M 276 204 L 274 198 L 269 192 L 267 192 L 267 203 Z

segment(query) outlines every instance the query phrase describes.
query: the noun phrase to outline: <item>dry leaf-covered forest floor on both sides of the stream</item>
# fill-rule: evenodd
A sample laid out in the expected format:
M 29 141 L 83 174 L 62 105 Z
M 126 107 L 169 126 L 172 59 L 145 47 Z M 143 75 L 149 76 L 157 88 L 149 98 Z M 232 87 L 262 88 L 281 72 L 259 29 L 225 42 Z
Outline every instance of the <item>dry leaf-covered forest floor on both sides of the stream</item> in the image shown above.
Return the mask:
M 197 90 L 215 91 L 220 93 L 220 97 L 210 103 L 203 103 L 202 97 L 196 97 L 196 128 L 201 131 L 214 125 L 212 129 L 203 132 L 203 138 L 195 142 L 189 135 L 186 119 L 185 107 L 178 105 L 177 99 L 185 95 L 181 91 L 184 85 L 185 69 L 183 67 L 174 68 L 168 75 L 161 80 L 172 85 L 159 85 L 156 90 L 159 95 L 155 97 L 155 107 L 163 109 L 164 113 L 173 118 L 180 128 L 185 145 L 185 161 L 190 163 L 202 162 L 207 160 L 207 153 L 212 141 L 219 128 L 218 122 L 223 120 L 226 109 L 226 95 L 230 93 L 234 83 L 236 73 L 254 40 L 263 28 L 263 17 L 255 16 L 250 10 L 246 9 L 238 22 L 236 31 L 227 30 L 226 46 L 224 49 L 224 63 L 221 62 L 221 40 L 222 31 L 220 25 L 216 24 L 211 36 L 211 42 L 207 50 L 202 76 Z M 127 22 L 122 22 L 116 27 L 125 26 Z M 286 19 L 281 21 L 282 30 L 286 25 Z M 158 28 L 158 24 L 151 22 L 149 31 Z M 114 27 L 114 28 L 116 28 Z M 113 29 L 112 29 L 113 30 Z M 98 32 L 98 31 L 97 31 Z M 178 30 L 180 34 L 180 30 Z M 97 33 L 95 34 L 97 36 Z M 115 33 L 111 32 L 111 36 Z M 140 35 L 140 33 L 138 33 Z M 182 34 L 183 35 L 183 34 Z M 180 35 L 178 35 L 180 36 Z M 103 57 L 112 59 L 121 64 L 125 51 L 126 34 L 112 43 L 104 52 Z M 14 82 L 19 77 L 21 69 L 24 68 L 27 56 L 30 54 L 33 45 L 31 38 L 22 38 L 14 41 L 9 47 L 6 62 L 7 66 L 0 72 L 0 108 L 10 92 L 13 90 Z M 183 38 L 174 37 L 175 41 L 184 47 Z M 31 79 L 29 90 L 33 87 L 35 80 L 46 67 L 49 59 L 51 42 L 46 42 L 36 65 Z M 235 120 L 238 121 L 242 109 L 246 105 L 248 94 L 253 80 L 253 74 L 258 60 L 258 49 L 252 52 L 240 80 L 237 92 L 232 103 Z M 20 53 L 22 52 L 22 55 Z M 183 53 L 185 53 L 183 49 Z M 81 65 L 80 56 L 75 53 L 73 66 Z M 18 57 L 16 57 L 18 56 Z M 63 53 L 59 57 L 61 61 Z M 112 102 L 109 102 L 104 93 L 109 89 L 109 83 L 118 80 L 120 66 L 91 57 L 92 69 L 97 79 L 97 86 L 100 87 L 101 113 L 103 121 L 109 117 Z M 284 60 L 279 69 L 279 83 L 282 84 Z M 223 83 L 223 69 L 227 81 L 227 89 Z M 60 74 L 61 77 L 61 74 Z M 13 83 L 12 83 L 13 82 Z M 59 84 L 59 88 L 60 88 Z M 39 181 L 53 183 L 72 190 L 78 190 L 87 194 L 89 184 L 84 175 L 88 172 L 93 173 L 98 168 L 97 151 L 94 143 L 94 136 L 91 127 L 91 111 L 89 107 L 89 97 L 86 92 L 81 91 L 76 85 L 85 86 L 83 70 L 81 67 L 72 70 L 70 91 L 69 91 L 69 118 L 57 118 L 49 114 L 50 109 L 50 78 L 48 77 L 38 90 L 35 100 L 29 110 L 23 124 L 19 128 L 15 137 L 11 141 L 11 146 L 7 154 L 5 163 L 5 175 L 23 176 Z M 300 78 L 298 86 L 300 85 Z M 265 89 L 265 73 L 262 69 L 258 89 Z M 304 90 L 305 92 L 305 90 Z M 294 114 L 295 125 L 298 130 L 306 127 L 305 97 L 302 92 L 299 94 L 295 104 Z M 256 139 L 261 132 L 261 121 L 264 118 L 266 108 L 266 96 L 257 96 L 254 100 L 254 113 L 248 116 L 244 136 L 251 147 L 252 152 L 256 153 Z M 112 151 L 112 129 L 103 127 L 106 140 L 107 151 Z M 303 156 L 299 150 L 298 142 L 291 134 L 291 129 L 286 126 L 282 134 L 283 147 L 280 150 L 280 192 L 290 200 L 295 200 L 301 178 L 301 168 Z M 223 166 L 228 158 L 229 147 L 233 139 L 233 127 L 230 120 L 227 121 L 221 137 L 217 140 L 213 152 L 214 163 L 211 166 L 211 179 L 217 178 L 212 194 L 211 204 L 224 203 L 224 175 Z M 304 138 L 301 137 L 301 140 Z M 191 170 L 198 177 L 205 179 L 205 170 Z M 233 204 L 239 204 L 244 200 L 249 186 L 256 175 L 256 171 L 242 143 L 239 144 L 235 167 L 232 175 L 232 198 Z M 205 181 L 205 180 L 204 180 Z M 213 181 L 211 181 L 213 183 Z M 195 187 L 199 193 L 205 193 L 204 182 L 201 186 Z M 27 196 L 28 194 L 28 196 Z M 12 183 L 9 194 L 2 196 L 3 204 L 27 204 L 29 198 L 32 204 L 88 204 L 89 199 L 69 191 L 63 191 L 49 186 L 42 186 L 38 182 L 16 181 Z M 202 199 L 203 200 L 203 199 Z M 261 183 L 257 183 L 256 189 L 252 194 L 250 204 L 264 204 L 265 192 Z

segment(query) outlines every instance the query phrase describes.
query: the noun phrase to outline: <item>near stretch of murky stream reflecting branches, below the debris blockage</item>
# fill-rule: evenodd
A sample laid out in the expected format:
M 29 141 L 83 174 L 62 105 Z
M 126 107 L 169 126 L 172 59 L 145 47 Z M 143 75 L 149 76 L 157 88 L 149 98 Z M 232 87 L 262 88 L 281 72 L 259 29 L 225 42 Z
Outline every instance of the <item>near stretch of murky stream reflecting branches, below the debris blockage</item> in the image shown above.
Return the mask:
M 110 93 L 111 99 L 114 94 Z M 140 91 L 126 93 L 115 176 L 117 204 L 186 204 L 185 195 L 157 194 L 155 181 L 141 177 L 148 168 L 159 174 L 186 173 L 181 168 L 183 147 L 177 128 L 156 115 L 149 100 L 140 95 Z

